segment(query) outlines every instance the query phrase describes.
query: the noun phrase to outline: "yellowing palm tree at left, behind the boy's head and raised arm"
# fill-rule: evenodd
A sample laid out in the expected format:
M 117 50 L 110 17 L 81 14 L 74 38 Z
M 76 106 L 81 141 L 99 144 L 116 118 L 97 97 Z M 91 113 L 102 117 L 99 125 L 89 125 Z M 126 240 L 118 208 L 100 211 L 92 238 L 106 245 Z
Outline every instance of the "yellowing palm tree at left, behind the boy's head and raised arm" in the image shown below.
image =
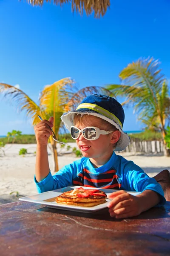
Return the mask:
M 74 81 L 70 78 L 64 78 L 56 81 L 52 85 L 44 87 L 40 93 L 39 105 L 37 105 L 30 97 L 22 90 L 11 86 L 9 84 L 0 83 L 0 93 L 4 96 L 10 96 L 17 102 L 18 109 L 20 111 L 26 111 L 27 116 L 32 119 L 32 125 L 36 125 L 40 122 L 38 115 L 42 116 L 42 119 L 49 119 L 50 116 L 54 117 L 53 130 L 58 136 L 59 128 L 63 127 L 63 123 L 60 119 L 63 113 L 74 109 L 83 98 L 93 93 L 104 93 L 109 95 L 110 92 L 103 87 L 85 87 L 78 90 Z M 57 147 L 56 141 L 50 136 L 50 143 L 54 155 L 55 172 L 58 171 L 57 160 Z

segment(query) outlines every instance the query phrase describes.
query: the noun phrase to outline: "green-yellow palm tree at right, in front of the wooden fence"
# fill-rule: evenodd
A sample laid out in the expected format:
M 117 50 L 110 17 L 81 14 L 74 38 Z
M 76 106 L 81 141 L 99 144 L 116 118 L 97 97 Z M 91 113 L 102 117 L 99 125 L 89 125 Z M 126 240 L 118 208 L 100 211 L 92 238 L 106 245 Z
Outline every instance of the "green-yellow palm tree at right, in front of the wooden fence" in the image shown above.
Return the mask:
M 116 96 L 125 96 L 122 105 L 133 105 L 139 113 L 139 120 L 147 127 L 159 127 L 165 145 L 166 120 L 170 120 L 170 97 L 159 61 L 140 58 L 128 64 L 119 77 L 122 84 L 110 84 L 106 88 Z

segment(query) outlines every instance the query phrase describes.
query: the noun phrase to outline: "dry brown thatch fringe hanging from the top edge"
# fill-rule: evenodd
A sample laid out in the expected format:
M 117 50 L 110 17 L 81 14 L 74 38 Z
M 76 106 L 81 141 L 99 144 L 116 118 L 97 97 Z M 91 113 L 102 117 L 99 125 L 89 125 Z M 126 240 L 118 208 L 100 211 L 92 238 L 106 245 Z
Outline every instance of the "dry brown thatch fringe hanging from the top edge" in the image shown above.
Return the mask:
M 27 0 L 33 6 L 42 6 L 45 0 Z M 46 2 L 51 2 L 51 0 L 46 0 Z M 94 11 L 95 17 L 100 17 L 100 15 L 105 15 L 108 7 L 110 7 L 110 0 L 54 0 L 56 5 L 60 4 L 62 6 L 64 3 L 72 2 L 72 11 L 76 9 L 80 15 L 83 14 L 85 10 L 86 15 L 90 15 Z

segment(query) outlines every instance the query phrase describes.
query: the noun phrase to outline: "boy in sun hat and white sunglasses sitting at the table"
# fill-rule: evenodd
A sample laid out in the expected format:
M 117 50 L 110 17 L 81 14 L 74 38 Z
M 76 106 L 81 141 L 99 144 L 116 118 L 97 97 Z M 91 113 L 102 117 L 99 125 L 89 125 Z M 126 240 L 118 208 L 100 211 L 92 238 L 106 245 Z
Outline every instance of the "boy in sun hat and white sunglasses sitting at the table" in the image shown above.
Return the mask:
M 164 192 L 132 161 L 114 151 L 124 150 L 130 138 L 123 132 L 125 114 L 122 105 L 110 96 L 86 97 L 75 111 L 61 116 L 83 157 L 65 166 L 54 176 L 48 164 L 47 143 L 52 134 L 53 117 L 35 126 L 37 157 L 35 183 L 38 192 L 79 185 L 118 189 L 111 193 L 108 208 L 115 218 L 139 215 L 153 206 L 165 203 Z M 124 190 L 142 192 L 133 196 Z

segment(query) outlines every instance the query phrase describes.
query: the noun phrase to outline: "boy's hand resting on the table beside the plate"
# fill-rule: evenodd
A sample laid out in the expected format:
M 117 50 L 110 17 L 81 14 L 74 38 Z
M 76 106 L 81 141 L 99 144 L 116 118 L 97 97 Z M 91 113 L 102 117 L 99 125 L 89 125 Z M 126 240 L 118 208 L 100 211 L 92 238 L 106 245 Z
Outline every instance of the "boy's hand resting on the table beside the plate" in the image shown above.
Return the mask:
M 130 195 L 124 190 L 113 192 L 108 195 L 108 198 L 112 199 L 108 204 L 111 217 L 128 218 L 142 212 L 140 198 Z

